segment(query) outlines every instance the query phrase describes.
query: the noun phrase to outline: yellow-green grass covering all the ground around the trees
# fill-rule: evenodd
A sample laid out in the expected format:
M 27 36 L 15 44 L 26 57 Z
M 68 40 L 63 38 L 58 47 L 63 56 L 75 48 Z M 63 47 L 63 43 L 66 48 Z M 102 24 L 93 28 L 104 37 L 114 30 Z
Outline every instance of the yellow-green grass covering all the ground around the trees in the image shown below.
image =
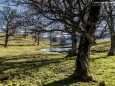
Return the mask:
M 97 82 L 67 81 L 73 73 L 75 58 L 64 58 L 66 53 L 42 52 L 50 47 L 46 40 L 40 45 L 31 37 L 11 37 L 8 48 L 3 47 L 0 37 L 0 86 L 98 86 L 103 81 L 115 86 L 115 56 L 106 57 L 106 52 L 91 54 L 90 72 Z M 110 42 L 98 43 L 92 50 L 108 50 Z

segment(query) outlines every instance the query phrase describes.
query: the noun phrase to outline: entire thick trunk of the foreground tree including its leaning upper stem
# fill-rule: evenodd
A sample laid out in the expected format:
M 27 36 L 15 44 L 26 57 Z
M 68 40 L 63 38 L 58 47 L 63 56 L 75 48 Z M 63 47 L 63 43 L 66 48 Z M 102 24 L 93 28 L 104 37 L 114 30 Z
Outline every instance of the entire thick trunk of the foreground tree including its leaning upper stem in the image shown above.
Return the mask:
M 100 0 L 94 0 L 100 1 Z M 96 22 L 98 21 L 98 15 L 100 12 L 100 5 L 93 5 L 91 4 L 91 8 L 89 11 L 88 23 L 85 27 L 87 34 L 90 37 L 93 37 L 93 34 L 96 29 Z M 90 81 L 92 78 L 89 75 L 89 65 L 90 65 L 90 48 L 92 40 L 89 39 L 86 35 L 82 34 L 80 38 L 80 44 L 78 48 L 78 57 L 76 59 L 76 66 L 75 66 L 75 76 L 78 80 L 82 81 Z

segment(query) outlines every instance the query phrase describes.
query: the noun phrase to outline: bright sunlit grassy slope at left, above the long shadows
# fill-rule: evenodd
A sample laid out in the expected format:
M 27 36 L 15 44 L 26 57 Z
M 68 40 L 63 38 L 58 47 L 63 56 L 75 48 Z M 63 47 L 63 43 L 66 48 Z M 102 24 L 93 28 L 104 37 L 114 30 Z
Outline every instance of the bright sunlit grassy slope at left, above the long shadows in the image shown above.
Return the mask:
M 43 47 L 50 47 L 49 43 L 41 38 L 40 45 L 37 45 L 36 43 L 34 43 L 34 39 L 32 37 L 27 36 L 26 38 L 22 38 L 19 35 L 15 37 L 10 37 L 7 48 L 3 47 L 3 37 L 1 37 L 0 44 L 0 56 L 13 56 L 26 53 L 32 54 L 41 52 L 40 49 Z

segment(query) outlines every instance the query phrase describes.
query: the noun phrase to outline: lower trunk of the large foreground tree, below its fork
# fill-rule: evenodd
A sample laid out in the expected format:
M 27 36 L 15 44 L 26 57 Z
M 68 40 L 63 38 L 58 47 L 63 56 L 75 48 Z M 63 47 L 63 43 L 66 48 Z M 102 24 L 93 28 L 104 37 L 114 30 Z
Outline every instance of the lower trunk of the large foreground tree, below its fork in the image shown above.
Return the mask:
M 90 65 L 90 48 L 91 45 L 88 39 L 84 36 L 80 38 L 78 47 L 78 57 L 76 59 L 76 76 L 79 80 L 89 80 L 89 65 Z

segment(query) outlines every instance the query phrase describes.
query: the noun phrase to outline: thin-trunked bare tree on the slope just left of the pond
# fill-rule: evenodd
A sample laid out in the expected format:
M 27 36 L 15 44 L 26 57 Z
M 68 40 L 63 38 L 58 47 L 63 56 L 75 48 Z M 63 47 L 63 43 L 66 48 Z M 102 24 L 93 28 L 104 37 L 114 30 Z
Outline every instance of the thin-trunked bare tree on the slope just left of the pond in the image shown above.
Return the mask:
M 22 13 L 21 27 L 25 31 L 25 36 L 29 33 L 33 36 L 34 42 L 39 45 L 39 35 L 43 32 L 44 26 L 41 24 L 41 16 L 36 15 L 31 10 Z

